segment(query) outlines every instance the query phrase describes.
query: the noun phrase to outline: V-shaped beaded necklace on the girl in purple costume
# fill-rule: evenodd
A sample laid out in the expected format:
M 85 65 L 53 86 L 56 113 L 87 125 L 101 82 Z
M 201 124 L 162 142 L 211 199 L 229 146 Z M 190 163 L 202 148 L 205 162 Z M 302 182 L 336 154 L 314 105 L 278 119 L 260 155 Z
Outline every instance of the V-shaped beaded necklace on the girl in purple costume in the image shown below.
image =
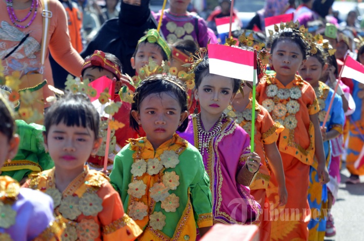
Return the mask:
M 211 131 L 205 131 L 203 124 L 201 123 L 201 114 L 196 115 L 197 132 L 199 138 L 198 150 L 203 155 L 205 148 L 211 142 L 211 139 L 221 133 L 222 119 L 226 117 L 225 113 L 222 113 L 215 126 Z

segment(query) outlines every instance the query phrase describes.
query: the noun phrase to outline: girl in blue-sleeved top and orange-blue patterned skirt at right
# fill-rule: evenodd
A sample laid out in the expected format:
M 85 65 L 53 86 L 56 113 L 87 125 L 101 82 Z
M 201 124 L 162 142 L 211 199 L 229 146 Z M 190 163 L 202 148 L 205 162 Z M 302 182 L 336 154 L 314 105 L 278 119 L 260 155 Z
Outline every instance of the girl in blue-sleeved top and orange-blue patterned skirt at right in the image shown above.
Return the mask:
M 313 50 L 315 48 L 315 50 Z M 312 52 L 316 52 L 312 54 Z M 329 120 L 322 126 L 324 150 L 326 156 L 326 166 L 330 166 L 332 146 L 330 140 L 342 134 L 344 125 L 344 110 L 341 97 L 334 93 L 329 86 L 320 81 L 328 65 L 326 64 L 324 49 L 319 45 L 311 45 L 311 54 L 306 63 L 299 71 L 300 75 L 314 89 L 316 98 L 319 100 L 320 126 L 323 125 L 325 115 L 329 112 Z M 331 98 L 334 96 L 333 107 L 329 109 Z M 314 159 L 309 171 L 308 203 L 311 208 L 311 220 L 308 224 L 308 240 L 324 240 L 326 232 L 327 213 L 324 209 L 328 208 L 328 190 L 326 185 L 320 185 L 317 175 L 317 160 Z

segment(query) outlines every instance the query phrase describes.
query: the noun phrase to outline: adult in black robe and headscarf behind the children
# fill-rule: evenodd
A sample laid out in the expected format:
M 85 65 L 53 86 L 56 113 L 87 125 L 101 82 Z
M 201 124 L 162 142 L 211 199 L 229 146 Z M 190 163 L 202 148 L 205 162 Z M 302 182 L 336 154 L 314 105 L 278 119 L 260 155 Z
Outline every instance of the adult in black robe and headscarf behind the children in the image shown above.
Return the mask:
M 157 28 L 157 23 L 149 10 L 149 0 L 123 0 L 119 17 L 101 26 L 81 56 L 86 57 L 96 49 L 112 53 L 120 59 L 123 72 L 133 76 L 135 70 L 131 68 L 130 58 L 138 40 L 151 28 Z

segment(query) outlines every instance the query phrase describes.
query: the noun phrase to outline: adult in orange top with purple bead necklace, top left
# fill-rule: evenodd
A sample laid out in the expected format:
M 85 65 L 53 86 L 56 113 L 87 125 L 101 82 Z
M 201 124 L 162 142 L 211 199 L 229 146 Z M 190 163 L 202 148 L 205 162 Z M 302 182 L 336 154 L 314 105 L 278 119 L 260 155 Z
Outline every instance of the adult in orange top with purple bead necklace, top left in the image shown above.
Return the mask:
M 54 85 L 49 52 L 73 75 L 81 74 L 83 59 L 72 47 L 65 9 L 58 0 L 49 0 L 53 14 L 47 34 L 43 79 Z M 43 2 L 40 0 L 0 1 L 0 58 L 5 75 L 19 71 L 23 76 L 40 71 L 40 48 L 43 32 Z M 43 87 L 43 98 L 54 93 Z

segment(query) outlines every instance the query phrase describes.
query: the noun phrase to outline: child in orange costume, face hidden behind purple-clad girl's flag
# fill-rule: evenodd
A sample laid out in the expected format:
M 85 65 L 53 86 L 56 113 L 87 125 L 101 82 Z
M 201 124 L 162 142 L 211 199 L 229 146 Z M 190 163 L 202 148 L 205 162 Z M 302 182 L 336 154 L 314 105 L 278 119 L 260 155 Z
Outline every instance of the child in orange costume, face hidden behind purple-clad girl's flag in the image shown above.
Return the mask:
M 257 76 L 259 81 L 264 78 L 265 66 L 263 66 L 263 63 L 259 58 L 258 63 Z M 247 84 L 243 84 L 241 90 L 243 91 L 243 94 L 238 93 L 235 96 L 232 104 L 233 108 L 228 112 L 228 115 L 234 117 L 235 122 L 250 136 L 252 125 L 251 89 Z M 268 111 L 259 103 L 255 104 L 255 111 L 254 150 L 258 153 L 260 159 L 265 161 L 262 161 L 263 165 L 259 168 L 259 172 L 249 188 L 250 194 L 262 207 L 262 213 L 259 215 L 259 219 L 255 221 L 255 224 L 259 226 L 260 240 L 269 240 L 271 222 L 266 190 L 268 189 L 270 173 L 272 170 L 276 173 L 279 184 L 279 200 L 277 201 L 279 201 L 280 206 L 285 205 L 287 202 L 287 190 L 282 159 L 276 144 L 279 134 L 283 131 L 284 127 L 280 123 L 274 122 Z

